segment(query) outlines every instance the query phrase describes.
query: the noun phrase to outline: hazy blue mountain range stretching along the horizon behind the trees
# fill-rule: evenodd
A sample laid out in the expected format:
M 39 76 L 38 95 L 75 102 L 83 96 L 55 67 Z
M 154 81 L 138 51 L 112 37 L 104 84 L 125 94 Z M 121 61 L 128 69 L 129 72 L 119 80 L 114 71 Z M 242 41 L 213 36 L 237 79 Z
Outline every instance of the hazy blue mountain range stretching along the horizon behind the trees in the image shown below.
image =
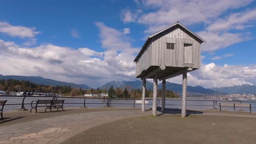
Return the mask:
M 26 80 L 31 81 L 37 84 L 42 85 L 53 85 L 53 86 L 71 86 L 71 87 L 81 87 L 84 89 L 89 89 L 90 87 L 86 84 L 75 84 L 70 82 L 62 82 L 51 79 L 44 79 L 41 76 L 18 76 L 18 75 L 0 75 L 0 79 L 14 79 L 14 80 Z M 128 89 L 141 89 L 142 81 L 110 81 L 99 87 L 100 89 L 109 89 L 111 86 L 114 88 L 128 88 Z M 147 81 L 146 83 L 147 89 L 153 89 L 153 83 Z M 159 83 L 158 88 L 162 88 L 162 83 Z M 166 82 L 166 89 L 177 92 L 179 94 L 182 93 L 182 85 L 177 83 Z M 222 94 L 232 94 L 232 93 L 246 93 L 246 94 L 256 94 L 256 86 L 255 85 L 238 85 L 238 86 L 230 86 L 230 87 L 213 87 L 213 88 L 203 88 L 201 86 L 188 86 L 187 87 L 188 95 L 222 95 Z

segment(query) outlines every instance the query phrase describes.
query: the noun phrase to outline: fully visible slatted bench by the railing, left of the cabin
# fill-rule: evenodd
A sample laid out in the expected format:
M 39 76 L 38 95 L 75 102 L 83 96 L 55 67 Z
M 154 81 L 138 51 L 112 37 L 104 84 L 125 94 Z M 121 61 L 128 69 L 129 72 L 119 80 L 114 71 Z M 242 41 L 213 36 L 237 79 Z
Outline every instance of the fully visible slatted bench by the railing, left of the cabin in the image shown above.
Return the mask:
M 50 109 L 50 112 L 51 112 L 51 109 L 54 109 L 54 108 L 57 108 L 57 111 L 59 111 L 59 108 L 62 109 L 63 111 L 63 104 L 64 104 L 64 101 L 65 100 L 40 100 L 38 99 L 37 101 L 36 100 L 33 100 L 31 102 L 31 110 L 30 112 L 34 109 L 36 110 L 36 113 L 37 113 L 37 108 L 38 107 L 45 107 L 45 110 L 44 112 L 46 112 L 47 109 Z

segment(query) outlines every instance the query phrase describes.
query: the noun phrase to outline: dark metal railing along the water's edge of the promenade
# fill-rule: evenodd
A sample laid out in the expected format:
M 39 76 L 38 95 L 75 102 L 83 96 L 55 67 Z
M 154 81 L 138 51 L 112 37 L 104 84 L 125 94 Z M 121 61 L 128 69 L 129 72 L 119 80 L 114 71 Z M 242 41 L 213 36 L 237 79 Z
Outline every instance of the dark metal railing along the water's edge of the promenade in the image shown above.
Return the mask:
M 16 99 L 15 99 L 16 98 Z M 53 97 L 53 96 L 18 96 L 18 95 L 0 95 L 0 100 L 8 100 L 5 104 L 6 106 L 19 106 L 19 110 L 27 110 L 28 106 L 30 107 L 32 100 L 37 99 L 65 99 L 65 105 L 69 105 L 73 107 L 74 105 L 80 105 L 80 107 L 89 107 L 89 105 L 101 107 L 120 107 L 120 106 L 128 106 L 136 107 L 136 105 L 141 105 L 141 103 L 136 103 L 136 100 L 141 99 L 121 99 L 121 98 L 88 98 L 88 97 Z M 21 100 L 22 99 L 22 100 Z M 147 101 L 150 103 L 145 104 L 146 106 L 152 105 L 152 99 L 147 98 Z M 14 101 L 14 102 L 13 102 Z M 188 99 L 187 107 L 199 107 L 199 109 L 214 109 L 217 110 L 218 104 L 223 103 L 224 100 L 196 100 L 196 99 Z M 249 103 L 252 104 L 252 110 L 256 111 L 256 101 L 225 101 L 225 103 Z M 179 107 L 181 106 L 181 99 L 166 99 L 165 106 L 168 107 Z M 161 99 L 157 100 L 157 107 L 161 107 Z

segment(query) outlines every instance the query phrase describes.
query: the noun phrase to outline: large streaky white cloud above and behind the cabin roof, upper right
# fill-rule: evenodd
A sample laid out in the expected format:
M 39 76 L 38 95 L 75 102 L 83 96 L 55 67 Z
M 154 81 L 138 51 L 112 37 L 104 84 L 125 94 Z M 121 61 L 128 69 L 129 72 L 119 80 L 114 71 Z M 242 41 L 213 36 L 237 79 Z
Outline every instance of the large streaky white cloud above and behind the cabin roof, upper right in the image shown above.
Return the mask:
M 123 10 L 121 15 L 125 17 L 124 11 L 130 16 L 135 15 L 132 20 L 124 22 L 137 22 L 146 26 L 146 35 L 158 32 L 177 21 L 187 27 L 199 24 L 202 30 L 196 34 L 207 41 L 207 44 L 202 44 L 202 52 L 213 52 L 252 39 L 251 34 L 245 31 L 230 31 L 253 27 L 256 10 L 239 9 L 251 2 L 253 1 L 141 0 L 136 1 L 138 9 L 143 9 L 139 15 L 137 11 L 130 9 Z M 240 12 L 230 14 L 230 10 L 234 9 Z

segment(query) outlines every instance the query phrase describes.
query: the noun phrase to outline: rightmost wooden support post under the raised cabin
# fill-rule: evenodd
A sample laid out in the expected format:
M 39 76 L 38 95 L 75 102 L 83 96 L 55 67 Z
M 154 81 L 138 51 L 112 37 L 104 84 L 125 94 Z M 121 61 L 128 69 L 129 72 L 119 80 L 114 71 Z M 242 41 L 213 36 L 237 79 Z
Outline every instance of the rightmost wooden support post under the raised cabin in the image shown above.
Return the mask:
M 186 117 L 186 106 L 187 106 L 187 73 L 183 73 L 182 82 L 182 117 Z

